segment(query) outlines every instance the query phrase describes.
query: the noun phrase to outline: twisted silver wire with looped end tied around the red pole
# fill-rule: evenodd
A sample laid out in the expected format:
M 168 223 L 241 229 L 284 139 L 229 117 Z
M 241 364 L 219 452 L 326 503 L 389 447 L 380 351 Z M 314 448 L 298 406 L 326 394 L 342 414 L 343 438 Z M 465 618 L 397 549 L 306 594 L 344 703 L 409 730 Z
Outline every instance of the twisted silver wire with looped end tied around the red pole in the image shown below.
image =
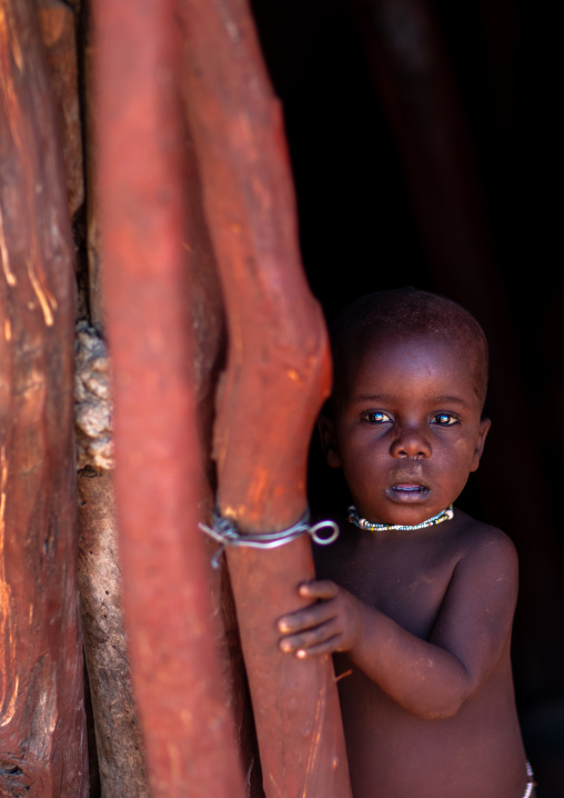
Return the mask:
M 200 522 L 200 529 L 209 535 L 213 540 L 220 543 L 220 548 L 212 557 L 212 566 L 220 567 L 220 559 L 226 546 L 246 546 L 251 549 L 276 549 L 284 546 L 302 535 L 310 535 L 318 546 L 329 546 L 339 537 L 339 526 L 334 521 L 324 520 L 310 525 L 310 511 L 306 510 L 303 516 L 292 527 L 281 529 L 278 532 L 242 532 L 235 521 L 231 518 L 221 516 L 215 509 L 213 512 L 213 526 Z M 322 537 L 319 532 L 322 529 L 329 529 L 330 533 Z

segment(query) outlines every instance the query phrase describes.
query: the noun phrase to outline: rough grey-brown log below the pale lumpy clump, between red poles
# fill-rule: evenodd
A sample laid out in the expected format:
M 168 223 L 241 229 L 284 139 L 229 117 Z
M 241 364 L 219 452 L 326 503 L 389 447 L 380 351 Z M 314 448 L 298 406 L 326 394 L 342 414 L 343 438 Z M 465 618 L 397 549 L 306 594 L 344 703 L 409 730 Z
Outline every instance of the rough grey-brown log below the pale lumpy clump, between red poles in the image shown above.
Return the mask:
M 149 798 L 122 608 L 113 472 L 83 470 L 79 488 L 79 587 L 103 798 Z

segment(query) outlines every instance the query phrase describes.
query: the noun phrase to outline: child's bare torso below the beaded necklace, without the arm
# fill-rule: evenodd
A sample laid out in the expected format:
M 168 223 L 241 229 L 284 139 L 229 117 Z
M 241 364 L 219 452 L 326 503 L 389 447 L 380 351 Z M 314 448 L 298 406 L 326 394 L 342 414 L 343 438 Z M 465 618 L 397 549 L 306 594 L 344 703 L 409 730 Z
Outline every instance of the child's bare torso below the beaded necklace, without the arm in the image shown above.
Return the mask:
M 426 641 L 436 635 L 453 575 L 475 541 L 502 535 L 461 511 L 412 532 L 366 532 L 339 521 L 339 541 L 316 551 L 318 578 L 335 581 Z M 466 581 L 471 598 L 480 579 Z M 522 798 L 527 777 L 510 641 L 507 628 L 476 692 L 452 717 L 431 720 L 402 708 L 346 655 L 334 655 L 354 798 Z

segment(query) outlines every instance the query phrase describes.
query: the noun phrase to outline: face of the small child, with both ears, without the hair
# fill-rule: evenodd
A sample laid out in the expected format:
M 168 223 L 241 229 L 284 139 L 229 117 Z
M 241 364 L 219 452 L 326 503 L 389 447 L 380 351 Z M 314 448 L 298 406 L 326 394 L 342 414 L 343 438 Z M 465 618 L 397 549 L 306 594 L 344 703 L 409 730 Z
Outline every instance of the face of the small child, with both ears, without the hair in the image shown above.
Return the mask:
M 320 427 L 361 517 L 421 523 L 459 497 L 490 428 L 472 356 L 425 335 L 389 337 L 349 369 L 334 416 Z

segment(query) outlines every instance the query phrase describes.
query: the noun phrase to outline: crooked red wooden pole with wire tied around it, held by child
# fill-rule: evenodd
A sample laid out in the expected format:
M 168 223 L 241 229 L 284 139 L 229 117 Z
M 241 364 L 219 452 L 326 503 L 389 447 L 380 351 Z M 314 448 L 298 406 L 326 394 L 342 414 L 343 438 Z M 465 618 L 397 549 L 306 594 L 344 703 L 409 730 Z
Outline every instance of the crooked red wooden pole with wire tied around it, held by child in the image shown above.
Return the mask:
M 180 0 L 185 101 L 229 322 L 214 452 L 219 507 L 245 531 L 306 507 L 315 417 L 330 390 L 324 321 L 306 285 L 279 101 L 241 0 Z M 276 618 L 314 576 L 301 538 L 228 552 L 268 796 L 350 796 L 330 657 L 278 649 Z

